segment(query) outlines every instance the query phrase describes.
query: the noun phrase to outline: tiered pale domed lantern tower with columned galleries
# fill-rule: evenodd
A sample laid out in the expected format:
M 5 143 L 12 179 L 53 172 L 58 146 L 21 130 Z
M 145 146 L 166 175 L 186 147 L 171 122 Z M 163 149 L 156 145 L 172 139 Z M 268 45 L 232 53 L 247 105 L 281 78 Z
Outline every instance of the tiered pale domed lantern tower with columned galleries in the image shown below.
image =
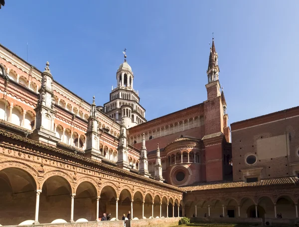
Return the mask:
M 126 49 L 124 62 L 116 72 L 117 87 L 110 93 L 110 101 L 104 104 L 104 112 L 122 124 L 122 119 L 127 128 L 146 122 L 146 110 L 139 104 L 138 91 L 133 88 L 134 74 L 127 62 Z

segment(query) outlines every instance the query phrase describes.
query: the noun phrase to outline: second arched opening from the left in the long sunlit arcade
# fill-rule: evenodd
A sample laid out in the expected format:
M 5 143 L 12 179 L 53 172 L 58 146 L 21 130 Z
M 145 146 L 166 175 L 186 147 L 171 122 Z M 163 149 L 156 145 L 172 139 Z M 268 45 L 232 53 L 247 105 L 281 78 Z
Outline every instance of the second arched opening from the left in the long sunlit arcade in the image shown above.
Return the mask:
M 39 222 L 51 223 L 56 219 L 71 219 L 71 186 L 62 176 L 48 178 L 42 186 L 39 201 Z

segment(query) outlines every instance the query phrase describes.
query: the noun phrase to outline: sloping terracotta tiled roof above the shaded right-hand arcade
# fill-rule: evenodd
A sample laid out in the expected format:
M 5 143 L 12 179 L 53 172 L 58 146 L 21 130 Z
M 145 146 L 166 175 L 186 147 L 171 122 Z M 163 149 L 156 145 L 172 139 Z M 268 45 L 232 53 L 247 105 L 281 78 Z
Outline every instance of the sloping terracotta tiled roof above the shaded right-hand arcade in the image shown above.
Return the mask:
M 201 182 L 195 183 L 190 186 L 181 187 L 184 191 L 203 191 L 203 190 L 216 190 L 216 189 L 233 189 L 244 187 L 261 187 L 261 186 L 274 186 L 274 185 L 299 185 L 298 177 L 280 177 L 263 179 L 260 182 L 246 183 L 243 181 L 218 181 L 218 182 Z

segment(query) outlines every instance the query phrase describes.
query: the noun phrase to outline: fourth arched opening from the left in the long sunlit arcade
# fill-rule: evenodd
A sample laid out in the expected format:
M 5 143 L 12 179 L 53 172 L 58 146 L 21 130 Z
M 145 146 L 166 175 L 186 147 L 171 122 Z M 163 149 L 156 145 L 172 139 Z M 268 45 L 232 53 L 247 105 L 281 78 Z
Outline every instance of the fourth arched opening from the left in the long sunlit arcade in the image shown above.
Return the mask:
M 111 186 L 105 186 L 100 195 L 99 201 L 99 218 L 103 217 L 103 214 L 111 214 L 111 218 L 116 217 L 116 190 Z M 122 217 L 120 212 L 118 213 L 119 218 Z

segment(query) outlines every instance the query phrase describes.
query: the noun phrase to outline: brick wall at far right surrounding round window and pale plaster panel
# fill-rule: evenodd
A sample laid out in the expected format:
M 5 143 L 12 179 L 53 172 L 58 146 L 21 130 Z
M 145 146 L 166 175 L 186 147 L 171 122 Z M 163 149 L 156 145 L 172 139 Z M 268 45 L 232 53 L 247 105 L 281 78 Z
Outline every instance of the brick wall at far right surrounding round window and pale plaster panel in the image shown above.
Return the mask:
M 270 115 L 269 117 L 273 116 Z M 263 118 L 263 121 L 260 122 L 260 125 L 243 129 L 236 127 L 235 129 L 238 130 L 232 131 L 234 181 L 242 180 L 242 173 L 239 170 L 250 168 L 263 168 L 262 178 L 290 176 L 293 175 L 291 164 L 299 163 L 299 156 L 297 155 L 297 149 L 299 148 L 299 116 L 287 118 L 286 120 L 281 118 L 281 120 L 275 120 L 271 123 L 266 123 L 267 118 L 264 116 L 261 118 Z M 254 121 L 256 122 L 258 119 L 254 119 Z M 246 126 L 243 123 L 242 125 Z M 238 126 L 238 123 L 236 123 L 236 126 Z M 290 156 L 272 158 L 270 155 L 269 159 L 259 160 L 258 157 L 258 162 L 254 165 L 248 166 L 245 163 L 247 154 L 257 152 L 258 139 L 284 135 L 286 132 L 290 134 Z

